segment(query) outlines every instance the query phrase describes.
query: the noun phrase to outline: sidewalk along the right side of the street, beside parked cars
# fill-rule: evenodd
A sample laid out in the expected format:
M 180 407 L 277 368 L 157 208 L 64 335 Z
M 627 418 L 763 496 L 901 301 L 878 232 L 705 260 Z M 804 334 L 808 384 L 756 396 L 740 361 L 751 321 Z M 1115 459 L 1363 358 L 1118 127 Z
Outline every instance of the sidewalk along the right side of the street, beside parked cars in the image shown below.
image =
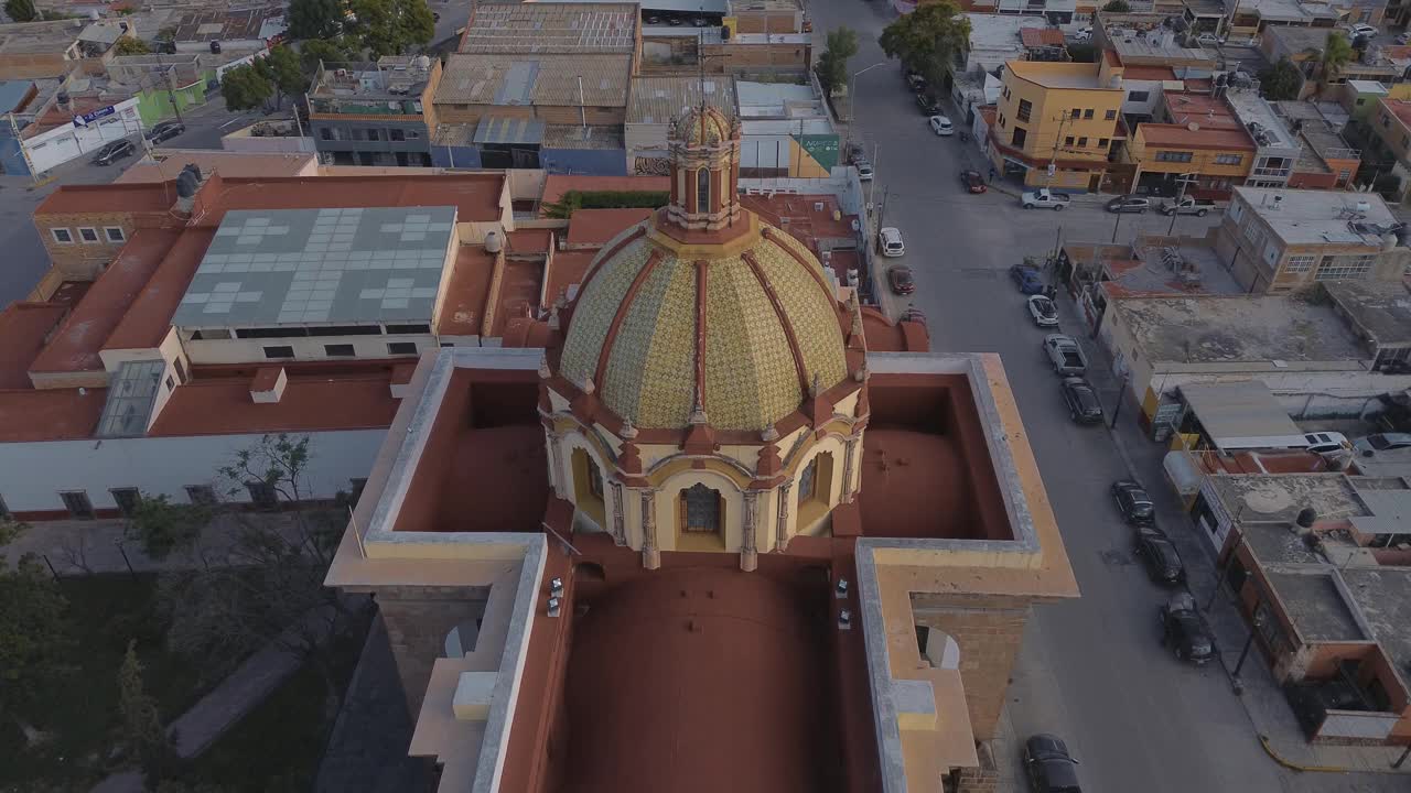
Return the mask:
M 1067 303 L 1068 310 L 1075 310 L 1067 295 L 1060 298 Z M 1120 378 L 1112 374 L 1112 361 L 1106 353 L 1089 339 L 1088 333 L 1074 334 L 1092 365 L 1088 368 L 1088 380 L 1102 395 L 1105 405 L 1116 402 L 1122 388 Z M 1189 579 L 1187 588 L 1195 595 L 1197 603 L 1205 608 L 1215 593 L 1218 570 L 1215 569 L 1215 549 L 1201 536 L 1191 523 L 1188 515 L 1181 509 L 1175 494 L 1171 491 L 1165 470 L 1161 466 L 1167 447 L 1146 437 L 1141 426 L 1136 422 L 1140 405 L 1123 394 L 1123 405 L 1118 426 L 1110 429 L 1112 440 L 1118 453 L 1126 463 L 1133 478 L 1147 485 L 1147 491 L 1157 502 L 1157 509 L 1165 518 L 1167 535 L 1175 545 L 1181 559 L 1185 560 Z M 1110 413 L 1109 413 L 1110 416 Z M 1109 419 L 1110 420 L 1110 419 Z M 1393 769 L 1403 748 L 1400 746 L 1328 746 L 1314 745 L 1304 737 L 1302 728 L 1294 717 L 1292 708 L 1284 698 L 1284 693 L 1274 680 L 1268 663 L 1257 643 L 1250 646 L 1249 658 L 1240 667 L 1239 683 L 1242 694 L 1233 691 L 1233 673 L 1239 665 L 1240 652 L 1250 636 L 1249 624 L 1235 607 L 1228 588 L 1215 595 L 1213 604 L 1204 612 L 1206 625 L 1215 636 L 1215 648 L 1226 676 L 1230 677 L 1230 696 L 1237 696 L 1249 715 L 1250 727 L 1263 739 L 1264 749 L 1274 762 L 1295 770 L 1309 772 L 1373 772 L 1373 773 L 1405 773 L 1411 775 L 1411 762 Z

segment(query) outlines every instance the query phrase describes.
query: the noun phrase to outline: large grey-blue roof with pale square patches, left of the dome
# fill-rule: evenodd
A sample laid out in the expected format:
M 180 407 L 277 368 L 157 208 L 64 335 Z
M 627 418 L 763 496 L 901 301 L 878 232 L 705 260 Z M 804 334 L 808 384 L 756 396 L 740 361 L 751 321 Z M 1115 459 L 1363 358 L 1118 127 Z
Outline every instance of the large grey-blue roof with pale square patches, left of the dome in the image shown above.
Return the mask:
M 430 322 L 456 209 L 227 212 L 178 327 Z

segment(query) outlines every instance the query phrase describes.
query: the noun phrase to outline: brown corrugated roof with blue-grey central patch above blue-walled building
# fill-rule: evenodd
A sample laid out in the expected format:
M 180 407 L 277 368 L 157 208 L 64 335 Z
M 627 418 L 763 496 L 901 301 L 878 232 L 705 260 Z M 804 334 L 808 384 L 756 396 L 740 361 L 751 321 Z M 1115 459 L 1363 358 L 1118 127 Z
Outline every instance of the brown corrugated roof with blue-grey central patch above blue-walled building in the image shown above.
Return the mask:
M 454 54 L 436 104 L 545 104 L 624 107 L 632 56 Z M 581 96 L 580 96 L 581 78 Z

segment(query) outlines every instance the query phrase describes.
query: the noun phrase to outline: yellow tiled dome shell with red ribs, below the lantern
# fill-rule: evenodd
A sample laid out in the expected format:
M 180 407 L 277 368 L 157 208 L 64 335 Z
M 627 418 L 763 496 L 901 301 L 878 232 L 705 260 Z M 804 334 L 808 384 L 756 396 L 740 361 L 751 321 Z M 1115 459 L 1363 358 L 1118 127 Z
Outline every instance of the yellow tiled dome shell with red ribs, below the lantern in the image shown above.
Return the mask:
M 745 250 L 694 254 L 679 258 L 639 226 L 605 246 L 577 298 L 560 374 L 591 380 L 608 409 L 648 429 L 687 426 L 700 377 L 707 423 L 739 430 L 799 409 L 814 378 L 827 389 L 847 377 L 837 302 L 797 240 L 766 227 Z

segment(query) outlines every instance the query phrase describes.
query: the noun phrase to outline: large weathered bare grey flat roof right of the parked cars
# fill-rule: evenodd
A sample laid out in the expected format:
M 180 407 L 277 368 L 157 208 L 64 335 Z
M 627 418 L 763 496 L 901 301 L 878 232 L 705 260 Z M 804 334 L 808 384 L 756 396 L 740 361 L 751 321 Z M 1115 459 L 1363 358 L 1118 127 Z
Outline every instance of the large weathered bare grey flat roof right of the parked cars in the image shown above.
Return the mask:
M 1125 298 L 1113 301 L 1112 308 L 1153 361 L 1287 367 L 1366 357 L 1359 339 L 1332 308 L 1295 298 Z

